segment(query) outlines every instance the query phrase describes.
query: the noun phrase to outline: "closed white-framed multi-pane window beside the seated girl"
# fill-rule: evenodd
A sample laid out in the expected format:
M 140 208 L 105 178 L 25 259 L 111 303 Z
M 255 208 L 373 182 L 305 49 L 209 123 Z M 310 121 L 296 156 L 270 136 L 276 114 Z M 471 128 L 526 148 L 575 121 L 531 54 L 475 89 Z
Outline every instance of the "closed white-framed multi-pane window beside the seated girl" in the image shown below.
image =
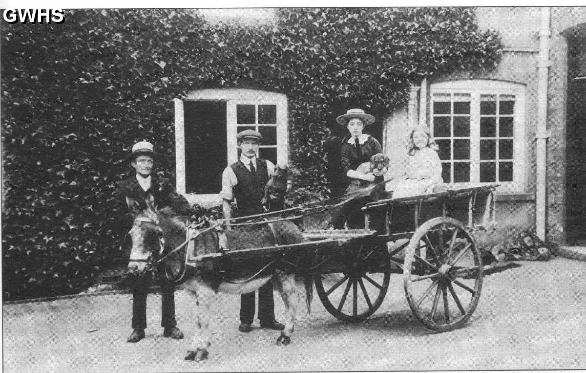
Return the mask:
M 430 128 L 445 183 L 524 192 L 524 90 L 481 79 L 431 84 Z

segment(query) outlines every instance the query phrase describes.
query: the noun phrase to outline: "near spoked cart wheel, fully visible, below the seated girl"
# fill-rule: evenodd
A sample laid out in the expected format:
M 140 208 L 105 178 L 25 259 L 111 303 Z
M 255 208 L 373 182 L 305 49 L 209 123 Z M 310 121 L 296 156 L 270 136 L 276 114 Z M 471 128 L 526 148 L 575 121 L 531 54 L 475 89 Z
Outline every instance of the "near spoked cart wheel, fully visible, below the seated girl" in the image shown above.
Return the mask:
M 430 219 L 410 240 L 403 276 L 409 306 L 425 326 L 435 331 L 462 327 L 482 289 L 476 240 L 456 219 Z

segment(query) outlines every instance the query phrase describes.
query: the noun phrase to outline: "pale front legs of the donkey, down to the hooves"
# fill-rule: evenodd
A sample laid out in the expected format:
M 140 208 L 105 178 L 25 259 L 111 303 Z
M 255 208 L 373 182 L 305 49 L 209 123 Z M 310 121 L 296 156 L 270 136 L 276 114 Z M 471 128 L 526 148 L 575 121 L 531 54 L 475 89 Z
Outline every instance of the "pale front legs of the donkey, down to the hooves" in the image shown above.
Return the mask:
M 185 355 L 185 360 L 202 361 L 207 359 L 207 347 L 210 346 L 210 306 L 214 291 L 210 287 L 202 285 L 196 287 L 195 293 L 189 292 L 192 293 L 195 303 L 193 307 L 195 326 L 193 328 L 193 341 Z

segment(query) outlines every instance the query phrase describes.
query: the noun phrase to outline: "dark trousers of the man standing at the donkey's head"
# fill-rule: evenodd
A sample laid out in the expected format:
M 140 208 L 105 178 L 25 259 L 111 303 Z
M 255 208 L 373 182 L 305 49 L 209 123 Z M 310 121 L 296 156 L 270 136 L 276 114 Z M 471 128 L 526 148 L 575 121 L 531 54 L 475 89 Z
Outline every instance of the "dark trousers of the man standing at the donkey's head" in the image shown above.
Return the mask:
M 174 327 L 175 320 L 175 286 L 170 283 L 165 273 L 159 273 L 161 285 L 161 326 Z M 147 294 L 149 282 L 139 282 L 132 293 L 132 328 L 144 329 L 147 327 Z

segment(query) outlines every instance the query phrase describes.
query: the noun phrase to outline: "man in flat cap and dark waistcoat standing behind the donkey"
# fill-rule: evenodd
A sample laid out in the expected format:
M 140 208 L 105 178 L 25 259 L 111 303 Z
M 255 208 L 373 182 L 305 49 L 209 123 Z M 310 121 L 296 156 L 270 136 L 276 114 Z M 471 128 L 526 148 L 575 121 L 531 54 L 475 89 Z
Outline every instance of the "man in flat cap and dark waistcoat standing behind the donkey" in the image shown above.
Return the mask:
M 241 131 L 236 135 L 241 155 L 240 160 L 226 167 L 222 174 L 222 209 L 224 218 L 230 219 L 230 202 L 236 199 L 237 216 L 249 216 L 263 213 L 261 199 L 268 179 L 274 174 L 275 165 L 271 161 L 257 157 L 258 147 L 263 135 L 253 130 Z M 255 311 L 255 291 L 240 297 L 240 330 L 248 333 L 252 330 Z M 258 289 L 258 320 L 263 328 L 283 330 L 285 325 L 275 321 L 272 283 L 268 282 Z

